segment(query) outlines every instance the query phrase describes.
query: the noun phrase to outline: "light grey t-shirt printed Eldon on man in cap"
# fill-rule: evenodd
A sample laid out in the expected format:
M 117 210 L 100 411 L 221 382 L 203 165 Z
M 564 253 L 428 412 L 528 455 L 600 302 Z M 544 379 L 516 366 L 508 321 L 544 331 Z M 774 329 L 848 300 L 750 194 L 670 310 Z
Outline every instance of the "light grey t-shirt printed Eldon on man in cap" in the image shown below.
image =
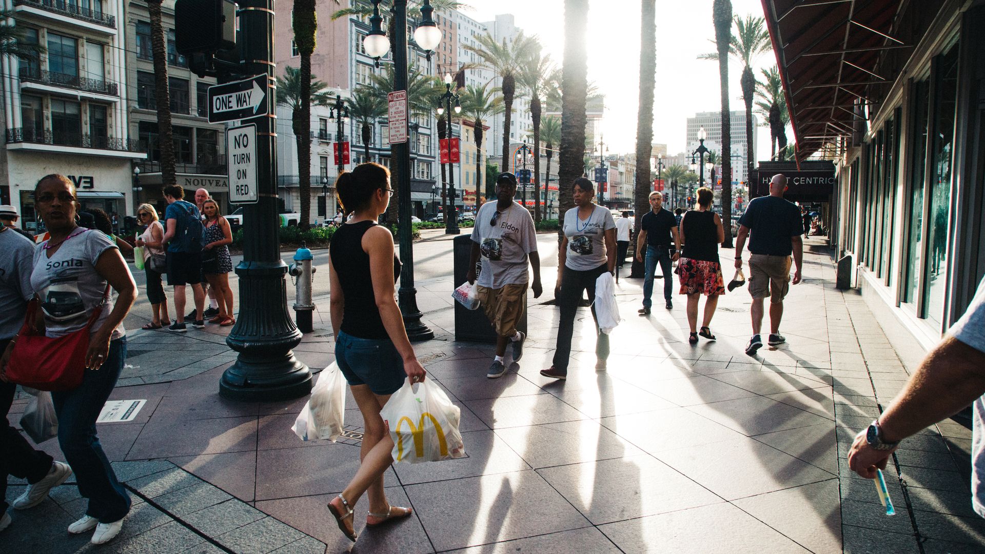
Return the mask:
M 482 271 L 476 283 L 491 289 L 528 283 L 527 254 L 537 251 L 537 232 L 530 212 L 516 201 L 499 212 L 496 202 L 486 202 L 476 214 L 472 240 L 479 244 Z

